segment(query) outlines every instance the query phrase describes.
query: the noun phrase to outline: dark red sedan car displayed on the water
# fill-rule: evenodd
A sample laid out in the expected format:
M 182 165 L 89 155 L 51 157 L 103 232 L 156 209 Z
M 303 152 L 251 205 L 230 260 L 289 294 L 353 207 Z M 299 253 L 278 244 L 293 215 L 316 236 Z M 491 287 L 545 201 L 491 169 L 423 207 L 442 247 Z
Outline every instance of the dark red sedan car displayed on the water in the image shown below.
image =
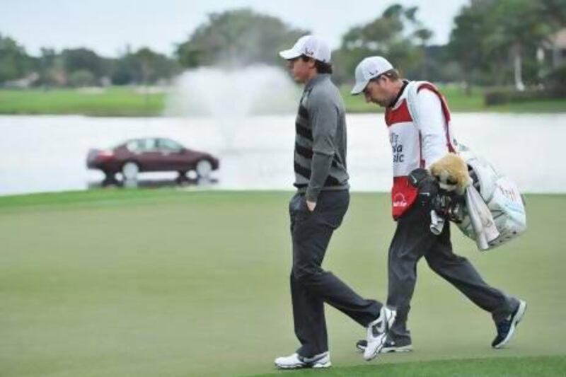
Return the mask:
M 112 149 L 91 149 L 86 166 L 102 170 L 112 180 L 122 173 L 125 180 L 136 180 L 139 173 L 176 171 L 181 178 L 194 171 L 198 178 L 209 178 L 219 168 L 218 158 L 185 148 L 165 138 L 132 139 Z

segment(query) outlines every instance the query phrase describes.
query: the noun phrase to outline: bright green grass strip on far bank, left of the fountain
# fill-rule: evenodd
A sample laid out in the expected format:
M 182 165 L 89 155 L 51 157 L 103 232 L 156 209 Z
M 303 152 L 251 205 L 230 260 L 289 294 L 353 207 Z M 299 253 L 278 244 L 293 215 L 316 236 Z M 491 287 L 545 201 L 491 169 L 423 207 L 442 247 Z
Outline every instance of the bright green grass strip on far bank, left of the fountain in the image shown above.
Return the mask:
M 137 93 L 133 88 L 112 87 L 102 93 L 76 89 L 0 90 L 0 114 L 81 114 L 93 116 L 161 115 L 163 93 Z

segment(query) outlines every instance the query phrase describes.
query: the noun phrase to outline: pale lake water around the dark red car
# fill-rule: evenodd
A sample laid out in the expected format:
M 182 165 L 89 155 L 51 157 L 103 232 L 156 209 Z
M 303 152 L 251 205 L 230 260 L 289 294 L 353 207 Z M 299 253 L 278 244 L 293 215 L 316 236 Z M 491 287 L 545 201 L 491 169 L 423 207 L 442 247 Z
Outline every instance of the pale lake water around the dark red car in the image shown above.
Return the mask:
M 383 115 L 347 115 L 353 191 L 388 191 L 391 147 Z M 565 192 L 562 153 L 566 114 L 453 114 L 454 134 L 524 192 Z M 293 190 L 294 115 L 221 120 L 210 117 L 109 118 L 0 116 L 0 195 L 87 190 L 103 174 L 86 153 L 135 137 L 170 137 L 221 159 L 214 190 Z M 142 175 L 171 181 L 175 173 Z

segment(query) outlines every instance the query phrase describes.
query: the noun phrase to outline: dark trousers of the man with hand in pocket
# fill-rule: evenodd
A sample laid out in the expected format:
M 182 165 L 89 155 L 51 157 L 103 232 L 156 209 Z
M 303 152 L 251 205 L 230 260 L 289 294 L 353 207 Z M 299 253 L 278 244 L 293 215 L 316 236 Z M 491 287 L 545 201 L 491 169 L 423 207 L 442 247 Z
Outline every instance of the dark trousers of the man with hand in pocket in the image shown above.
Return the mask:
M 330 238 L 346 214 L 350 193 L 323 191 L 317 200 L 312 212 L 302 194 L 294 195 L 289 202 L 293 241 L 291 301 L 295 334 L 301 342 L 297 353 L 305 357 L 328 351 L 324 303 L 362 326 L 375 320 L 381 310 L 381 303 L 362 298 L 332 272 L 320 267 Z

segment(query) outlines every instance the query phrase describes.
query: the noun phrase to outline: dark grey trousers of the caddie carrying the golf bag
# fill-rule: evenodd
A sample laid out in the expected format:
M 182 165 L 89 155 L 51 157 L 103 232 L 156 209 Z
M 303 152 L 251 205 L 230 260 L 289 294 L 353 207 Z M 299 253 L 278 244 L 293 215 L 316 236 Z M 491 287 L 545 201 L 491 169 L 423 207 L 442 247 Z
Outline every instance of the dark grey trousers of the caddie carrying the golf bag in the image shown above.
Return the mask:
M 417 262 L 421 257 L 429 267 L 461 291 L 475 305 L 492 313 L 495 322 L 507 317 L 519 305 L 519 300 L 507 296 L 485 283 L 473 265 L 452 252 L 450 226 L 446 221 L 439 236 L 429 230 L 430 209 L 420 202 L 398 219 L 397 229 L 389 248 L 389 292 L 387 304 L 397 308 L 391 338 L 403 346 L 411 343 L 407 318 L 415 283 Z

